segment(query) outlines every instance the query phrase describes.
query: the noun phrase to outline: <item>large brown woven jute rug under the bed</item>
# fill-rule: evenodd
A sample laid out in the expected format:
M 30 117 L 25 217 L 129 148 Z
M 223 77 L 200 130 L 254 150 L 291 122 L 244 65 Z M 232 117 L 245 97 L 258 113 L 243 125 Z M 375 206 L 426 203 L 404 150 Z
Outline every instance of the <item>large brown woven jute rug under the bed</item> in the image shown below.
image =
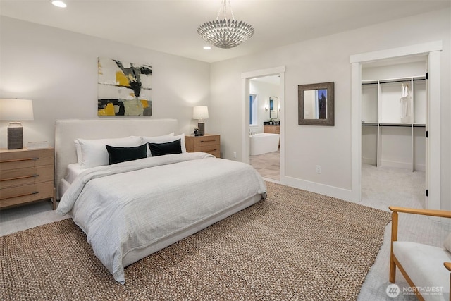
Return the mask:
M 0 238 L 0 300 L 356 300 L 388 212 L 266 183 L 268 198 L 125 269 L 71 219 Z

